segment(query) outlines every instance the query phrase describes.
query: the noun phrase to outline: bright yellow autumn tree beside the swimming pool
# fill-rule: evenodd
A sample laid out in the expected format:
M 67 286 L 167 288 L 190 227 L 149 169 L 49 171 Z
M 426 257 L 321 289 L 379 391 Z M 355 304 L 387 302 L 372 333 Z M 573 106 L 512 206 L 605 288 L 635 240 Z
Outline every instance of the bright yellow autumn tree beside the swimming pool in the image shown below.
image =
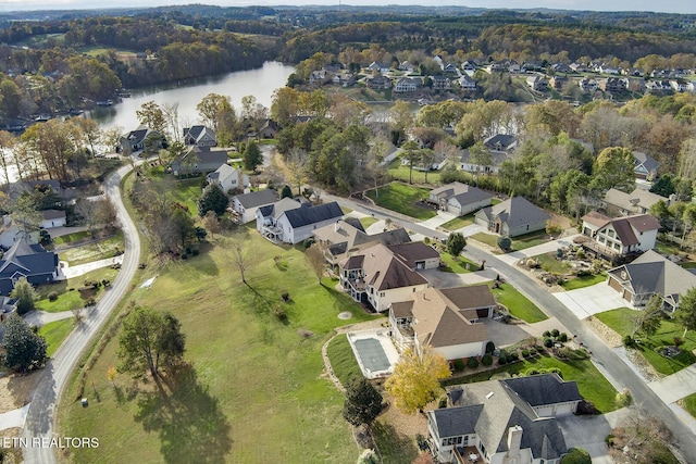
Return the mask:
M 447 360 L 430 347 L 408 348 L 394 367 L 385 388 L 396 406 L 407 414 L 423 409 L 433 401 L 442 387 L 439 381 L 451 375 Z

